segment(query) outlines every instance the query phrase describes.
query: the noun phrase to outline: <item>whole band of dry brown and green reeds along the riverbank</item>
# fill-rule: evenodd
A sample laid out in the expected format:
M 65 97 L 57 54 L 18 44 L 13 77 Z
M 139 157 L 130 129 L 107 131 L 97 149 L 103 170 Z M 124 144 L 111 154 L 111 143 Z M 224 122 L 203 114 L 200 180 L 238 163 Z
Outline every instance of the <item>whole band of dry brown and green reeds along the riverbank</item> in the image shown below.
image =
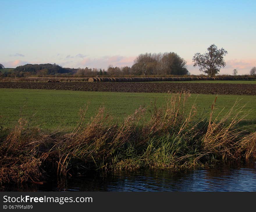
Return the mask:
M 84 109 L 70 133 L 44 134 L 20 119 L 0 137 L 0 183 L 40 182 L 52 174 L 71 176 L 94 170 L 179 170 L 256 157 L 256 132 L 239 127 L 248 114 L 239 101 L 227 114 L 220 112 L 213 118 L 215 99 L 206 120 L 197 117 L 195 104 L 185 113 L 189 96 L 185 91 L 170 94 L 163 107 L 140 107 L 121 125 L 103 107 L 84 123 Z M 149 119 L 145 118 L 148 111 Z

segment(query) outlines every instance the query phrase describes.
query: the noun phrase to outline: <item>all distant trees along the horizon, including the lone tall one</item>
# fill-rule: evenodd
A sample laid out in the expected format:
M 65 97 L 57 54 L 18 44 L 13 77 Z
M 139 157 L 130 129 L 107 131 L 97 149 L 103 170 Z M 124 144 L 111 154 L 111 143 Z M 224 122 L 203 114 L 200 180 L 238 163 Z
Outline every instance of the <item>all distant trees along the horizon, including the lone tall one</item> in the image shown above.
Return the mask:
M 218 49 L 215 44 L 211 44 L 204 54 L 195 53 L 192 61 L 194 66 L 199 67 L 199 71 L 212 77 L 219 73 L 222 67 L 226 66 L 224 56 L 227 51 L 224 48 Z M 4 66 L 0 64 L 0 69 Z M 5 72 L 2 76 L 18 76 L 27 75 L 38 76 L 77 76 L 77 77 L 95 77 L 95 76 L 166 76 L 166 75 L 189 75 L 186 68 L 186 61 L 175 52 L 165 53 L 144 53 L 138 55 L 134 64 L 129 67 L 113 67 L 109 65 L 108 69 L 97 68 L 63 68 L 58 64 L 26 64 L 16 67 L 13 72 Z M 233 70 L 233 75 L 237 76 L 237 69 Z M 1 71 L 0 71 L 1 75 Z M 250 70 L 250 75 L 256 75 L 256 67 Z

